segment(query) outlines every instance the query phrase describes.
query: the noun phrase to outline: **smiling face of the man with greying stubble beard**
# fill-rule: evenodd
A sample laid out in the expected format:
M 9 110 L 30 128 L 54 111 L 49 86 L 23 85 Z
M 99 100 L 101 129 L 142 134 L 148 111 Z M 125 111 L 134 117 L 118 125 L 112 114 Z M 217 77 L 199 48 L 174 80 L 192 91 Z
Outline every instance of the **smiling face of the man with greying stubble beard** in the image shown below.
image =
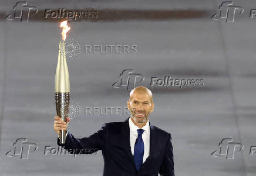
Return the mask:
M 149 119 L 149 114 L 153 111 L 154 103 L 150 102 L 149 94 L 135 93 L 130 97 L 130 101 L 127 101 L 127 106 L 134 122 L 144 123 Z

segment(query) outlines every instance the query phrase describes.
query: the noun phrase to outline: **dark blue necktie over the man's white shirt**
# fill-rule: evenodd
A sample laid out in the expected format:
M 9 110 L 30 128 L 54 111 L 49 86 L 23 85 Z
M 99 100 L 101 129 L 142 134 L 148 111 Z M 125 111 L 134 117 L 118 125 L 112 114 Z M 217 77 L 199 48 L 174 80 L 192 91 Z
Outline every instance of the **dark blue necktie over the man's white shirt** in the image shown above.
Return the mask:
M 137 132 L 138 132 L 138 137 L 134 145 L 133 159 L 136 165 L 136 169 L 137 171 L 139 171 L 140 168 L 142 167 L 143 155 L 144 155 L 144 142 L 142 139 L 142 133 L 144 132 L 144 130 L 137 129 Z

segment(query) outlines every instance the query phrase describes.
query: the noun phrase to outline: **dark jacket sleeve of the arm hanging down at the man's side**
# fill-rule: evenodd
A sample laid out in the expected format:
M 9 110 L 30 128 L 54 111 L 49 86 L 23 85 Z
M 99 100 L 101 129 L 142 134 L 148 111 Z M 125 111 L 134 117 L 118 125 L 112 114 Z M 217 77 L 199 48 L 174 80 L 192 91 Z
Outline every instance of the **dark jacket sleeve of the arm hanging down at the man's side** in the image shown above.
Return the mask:
M 171 144 L 171 134 L 166 144 L 166 151 L 164 154 L 163 163 L 160 167 L 159 174 L 161 176 L 174 176 L 174 163 L 173 163 L 173 145 Z

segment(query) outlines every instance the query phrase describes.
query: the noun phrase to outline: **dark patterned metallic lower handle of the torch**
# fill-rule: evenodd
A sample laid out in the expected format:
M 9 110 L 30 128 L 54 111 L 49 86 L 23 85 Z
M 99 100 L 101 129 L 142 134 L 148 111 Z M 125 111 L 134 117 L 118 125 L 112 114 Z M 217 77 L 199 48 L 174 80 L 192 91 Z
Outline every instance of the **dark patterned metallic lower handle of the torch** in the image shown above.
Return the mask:
M 69 92 L 55 92 L 55 103 L 57 116 L 62 118 L 62 121 L 66 122 L 66 118 L 69 113 Z M 65 144 L 66 142 L 66 130 L 60 130 L 59 133 L 60 144 Z

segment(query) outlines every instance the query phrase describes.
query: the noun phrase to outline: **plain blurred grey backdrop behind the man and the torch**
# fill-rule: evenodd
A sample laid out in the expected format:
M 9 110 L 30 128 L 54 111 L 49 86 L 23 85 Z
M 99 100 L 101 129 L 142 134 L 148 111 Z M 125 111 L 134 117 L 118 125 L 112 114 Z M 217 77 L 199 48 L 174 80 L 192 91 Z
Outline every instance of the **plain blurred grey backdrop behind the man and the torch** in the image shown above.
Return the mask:
M 102 175 L 101 151 L 75 158 L 43 155 L 45 146 L 57 147 L 54 80 L 61 29 L 47 19 L 6 20 L 16 2 L 0 5 L 0 175 Z M 129 91 L 112 87 L 124 69 L 143 74 L 146 80 L 140 85 L 147 87 L 150 77 L 203 78 L 201 88 L 149 87 L 155 103 L 150 123 L 171 133 L 176 175 L 255 175 L 256 156 L 249 153 L 256 145 L 256 23 L 249 12 L 256 3 L 233 1 L 244 13 L 226 23 L 211 19 L 221 2 L 28 1 L 40 10 L 95 8 L 105 14 L 119 10 L 134 15 L 70 23 L 68 38 L 82 47 L 75 60 L 68 60 L 70 97 L 81 108 L 79 118 L 70 122 L 70 132 L 85 137 L 105 122 L 127 118 L 85 116 L 84 110 L 126 106 Z M 136 15 L 147 10 L 174 11 L 180 17 Z M 85 44 L 136 44 L 138 53 L 85 54 Z M 38 150 L 28 160 L 5 156 L 21 137 L 37 143 Z M 233 160 L 211 156 L 225 137 L 244 144 Z

